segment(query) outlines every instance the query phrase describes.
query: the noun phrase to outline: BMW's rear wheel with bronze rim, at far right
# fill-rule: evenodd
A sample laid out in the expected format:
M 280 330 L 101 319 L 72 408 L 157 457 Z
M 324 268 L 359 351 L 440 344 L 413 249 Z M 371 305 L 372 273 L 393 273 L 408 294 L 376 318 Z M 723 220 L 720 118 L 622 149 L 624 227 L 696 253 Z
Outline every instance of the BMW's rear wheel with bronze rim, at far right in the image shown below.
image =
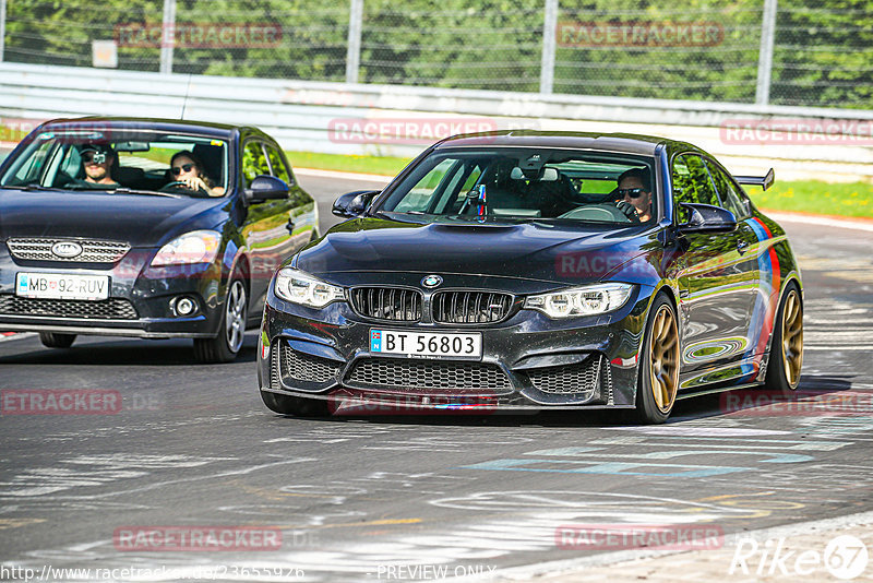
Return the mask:
M 800 291 L 789 284 L 773 321 L 773 342 L 764 384 L 768 391 L 793 394 L 803 366 L 803 305 Z

